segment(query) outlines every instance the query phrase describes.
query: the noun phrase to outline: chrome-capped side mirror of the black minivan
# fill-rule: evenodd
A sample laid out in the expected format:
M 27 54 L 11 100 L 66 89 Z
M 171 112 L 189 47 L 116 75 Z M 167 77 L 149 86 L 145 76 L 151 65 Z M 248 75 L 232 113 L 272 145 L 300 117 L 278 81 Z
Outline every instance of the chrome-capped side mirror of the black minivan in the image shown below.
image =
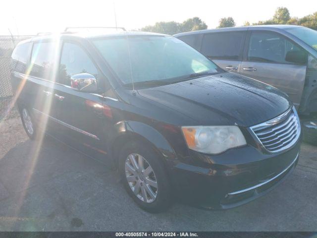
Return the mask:
M 78 73 L 70 77 L 71 87 L 81 92 L 96 92 L 97 79 L 90 73 Z

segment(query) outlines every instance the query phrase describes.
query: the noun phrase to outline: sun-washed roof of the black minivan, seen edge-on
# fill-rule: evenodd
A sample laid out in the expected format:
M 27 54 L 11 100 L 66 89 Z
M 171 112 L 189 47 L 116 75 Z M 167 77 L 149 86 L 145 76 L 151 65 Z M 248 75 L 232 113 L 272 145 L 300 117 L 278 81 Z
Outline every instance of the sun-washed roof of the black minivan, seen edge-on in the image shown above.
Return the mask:
M 49 39 L 58 39 L 59 36 L 74 36 L 85 39 L 102 38 L 102 37 L 115 37 L 115 36 L 168 36 L 165 34 L 152 33 L 152 32 L 142 32 L 142 31 L 120 31 L 120 32 L 109 32 L 101 33 L 99 32 L 62 32 L 60 34 L 47 34 L 32 37 L 28 40 L 23 41 L 23 43 L 28 41 L 41 41 Z M 22 43 L 22 42 L 21 42 Z

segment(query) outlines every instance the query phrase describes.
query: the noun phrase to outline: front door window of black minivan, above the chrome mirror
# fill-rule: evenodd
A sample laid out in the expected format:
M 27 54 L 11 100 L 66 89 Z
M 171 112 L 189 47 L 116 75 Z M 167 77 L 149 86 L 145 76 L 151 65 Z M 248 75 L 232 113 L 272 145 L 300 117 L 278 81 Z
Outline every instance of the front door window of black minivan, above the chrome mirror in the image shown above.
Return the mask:
M 78 45 L 64 43 L 58 82 L 70 86 L 70 77 L 78 73 L 90 73 L 98 79 L 98 70 L 86 52 Z

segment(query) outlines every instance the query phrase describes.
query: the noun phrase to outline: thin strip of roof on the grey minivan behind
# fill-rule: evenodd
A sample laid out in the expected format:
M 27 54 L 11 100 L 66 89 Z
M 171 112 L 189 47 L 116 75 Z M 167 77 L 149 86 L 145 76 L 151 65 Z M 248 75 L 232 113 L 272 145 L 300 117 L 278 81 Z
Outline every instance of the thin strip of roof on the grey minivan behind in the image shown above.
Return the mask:
M 225 28 L 216 28 L 216 29 L 207 29 L 200 31 L 190 31 L 184 33 L 178 33 L 173 36 L 185 36 L 185 35 L 193 35 L 193 34 L 202 34 L 202 33 L 210 33 L 210 32 L 225 32 L 225 31 L 243 31 L 248 30 L 249 28 L 261 28 L 262 30 L 270 30 L 270 29 L 288 29 L 295 27 L 303 27 L 303 26 L 295 26 L 295 25 L 257 25 L 257 26 L 241 26 L 241 27 L 225 27 Z

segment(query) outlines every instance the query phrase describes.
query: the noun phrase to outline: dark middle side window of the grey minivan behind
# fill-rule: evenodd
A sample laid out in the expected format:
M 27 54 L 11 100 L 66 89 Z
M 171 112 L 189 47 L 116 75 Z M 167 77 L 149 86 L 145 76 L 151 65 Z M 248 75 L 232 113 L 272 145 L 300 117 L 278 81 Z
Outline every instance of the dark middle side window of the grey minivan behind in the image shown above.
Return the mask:
M 204 36 L 202 53 L 218 60 L 239 60 L 245 32 L 209 33 Z

